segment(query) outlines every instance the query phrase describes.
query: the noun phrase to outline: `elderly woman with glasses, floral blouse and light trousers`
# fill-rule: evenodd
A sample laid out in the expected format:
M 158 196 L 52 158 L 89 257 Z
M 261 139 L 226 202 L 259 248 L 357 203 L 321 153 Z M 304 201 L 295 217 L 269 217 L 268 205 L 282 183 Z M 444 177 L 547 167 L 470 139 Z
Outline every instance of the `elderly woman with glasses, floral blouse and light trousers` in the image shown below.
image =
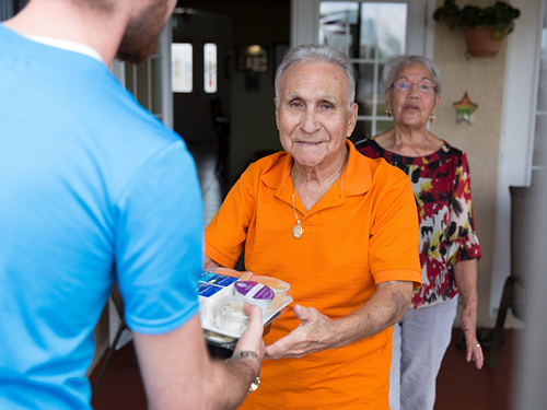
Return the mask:
M 435 378 L 463 303 L 466 360 L 481 368 L 476 337 L 477 259 L 470 176 L 464 152 L 433 136 L 441 102 L 437 66 L 419 56 L 391 59 L 384 67 L 386 114 L 394 126 L 356 144 L 369 157 L 383 157 L 411 179 L 420 223 L 422 286 L 393 332 L 391 409 L 433 409 Z

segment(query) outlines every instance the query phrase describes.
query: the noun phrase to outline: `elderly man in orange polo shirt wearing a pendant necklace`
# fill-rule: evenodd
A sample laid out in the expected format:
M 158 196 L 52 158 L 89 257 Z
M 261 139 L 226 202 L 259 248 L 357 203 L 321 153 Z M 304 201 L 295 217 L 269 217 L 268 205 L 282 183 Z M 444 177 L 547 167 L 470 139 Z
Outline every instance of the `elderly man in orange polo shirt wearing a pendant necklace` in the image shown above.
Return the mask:
M 291 49 L 276 73 L 284 151 L 252 164 L 206 230 L 206 268 L 291 284 L 266 336 L 263 384 L 242 409 L 388 409 L 392 330 L 421 284 L 410 180 L 346 140 L 354 73 L 329 46 Z

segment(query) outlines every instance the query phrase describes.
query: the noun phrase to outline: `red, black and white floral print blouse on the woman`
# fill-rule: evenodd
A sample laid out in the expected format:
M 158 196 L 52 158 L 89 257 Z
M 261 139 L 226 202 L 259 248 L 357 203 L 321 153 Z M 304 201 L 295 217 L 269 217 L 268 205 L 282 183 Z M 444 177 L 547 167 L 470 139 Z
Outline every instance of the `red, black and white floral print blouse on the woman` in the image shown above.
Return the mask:
M 427 156 L 403 156 L 374 139 L 356 143 L 363 155 L 383 157 L 411 179 L 420 224 L 423 284 L 414 290 L 410 307 L 431 306 L 457 294 L 452 268 L 459 260 L 480 258 L 473 220 L 467 155 L 449 143 Z

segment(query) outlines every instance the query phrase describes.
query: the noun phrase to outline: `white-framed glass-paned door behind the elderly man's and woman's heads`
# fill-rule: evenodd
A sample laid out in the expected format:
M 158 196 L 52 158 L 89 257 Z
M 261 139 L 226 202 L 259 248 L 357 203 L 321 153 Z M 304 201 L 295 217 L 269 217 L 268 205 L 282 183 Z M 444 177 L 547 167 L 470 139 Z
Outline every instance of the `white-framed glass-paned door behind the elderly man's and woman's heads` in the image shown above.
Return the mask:
M 404 54 L 432 57 L 428 32 L 431 0 L 292 0 L 292 45 L 329 44 L 345 52 L 357 72 L 357 142 L 393 126 L 385 114 L 382 70 Z M 432 37 L 432 36 L 429 36 Z

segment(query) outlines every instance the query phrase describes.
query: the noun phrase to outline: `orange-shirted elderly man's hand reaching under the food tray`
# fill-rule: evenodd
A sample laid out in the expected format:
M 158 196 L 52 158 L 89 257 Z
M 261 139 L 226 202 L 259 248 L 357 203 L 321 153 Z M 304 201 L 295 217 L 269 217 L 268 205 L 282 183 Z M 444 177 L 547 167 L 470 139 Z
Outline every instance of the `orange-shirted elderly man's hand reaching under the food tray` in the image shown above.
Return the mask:
M 301 305 L 294 305 L 294 316 L 302 323 L 284 338 L 267 345 L 265 359 L 302 358 L 337 347 L 339 335 L 335 320 Z

